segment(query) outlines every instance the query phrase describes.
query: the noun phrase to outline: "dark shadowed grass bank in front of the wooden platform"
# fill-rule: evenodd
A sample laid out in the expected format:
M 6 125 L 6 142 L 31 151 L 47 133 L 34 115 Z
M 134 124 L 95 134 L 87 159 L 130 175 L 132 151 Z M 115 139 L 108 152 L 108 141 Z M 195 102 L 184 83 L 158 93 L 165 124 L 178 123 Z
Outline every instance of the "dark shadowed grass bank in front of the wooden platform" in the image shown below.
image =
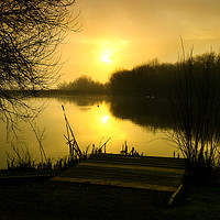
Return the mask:
M 187 186 L 170 193 L 89 184 L 0 184 L 0 219 L 220 219 L 220 188 Z

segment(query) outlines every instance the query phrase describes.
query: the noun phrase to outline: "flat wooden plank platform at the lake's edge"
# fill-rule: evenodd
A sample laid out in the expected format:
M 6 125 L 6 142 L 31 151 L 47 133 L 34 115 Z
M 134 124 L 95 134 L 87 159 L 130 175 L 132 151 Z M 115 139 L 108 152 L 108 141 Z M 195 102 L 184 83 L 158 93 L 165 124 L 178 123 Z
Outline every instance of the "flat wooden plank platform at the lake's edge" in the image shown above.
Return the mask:
M 184 173 L 182 158 L 99 154 L 52 180 L 176 191 Z

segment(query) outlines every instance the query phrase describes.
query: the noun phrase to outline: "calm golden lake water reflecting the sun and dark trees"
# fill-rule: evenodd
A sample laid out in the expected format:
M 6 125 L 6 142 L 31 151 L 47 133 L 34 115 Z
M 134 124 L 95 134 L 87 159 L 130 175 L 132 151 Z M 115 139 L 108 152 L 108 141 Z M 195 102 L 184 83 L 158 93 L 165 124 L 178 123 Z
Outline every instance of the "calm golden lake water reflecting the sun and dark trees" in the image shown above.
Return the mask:
M 62 105 L 82 150 L 90 144 L 103 144 L 109 138 L 107 153 L 119 153 L 125 141 L 129 150 L 135 147 L 139 153 L 151 156 L 173 156 L 176 150 L 162 139 L 164 132 L 172 129 L 167 100 L 77 96 L 38 98 L 33 101 L 36 106 L 46 105 L 35 122 L 41 131 L 45 129 L 43 146 L 47 157 L 54 162 L 68 154 Z M 19 140 L 40 162 L 38 144 L 31 127 L 23 123 L 20 128 Z M 7 143 L 6 125 L 1 124 L 0 132 L 0 167 L 4 168 L 7 153 L 11 154 L 11 144 Z M 20 145 L 24 146 L 22 143 Z

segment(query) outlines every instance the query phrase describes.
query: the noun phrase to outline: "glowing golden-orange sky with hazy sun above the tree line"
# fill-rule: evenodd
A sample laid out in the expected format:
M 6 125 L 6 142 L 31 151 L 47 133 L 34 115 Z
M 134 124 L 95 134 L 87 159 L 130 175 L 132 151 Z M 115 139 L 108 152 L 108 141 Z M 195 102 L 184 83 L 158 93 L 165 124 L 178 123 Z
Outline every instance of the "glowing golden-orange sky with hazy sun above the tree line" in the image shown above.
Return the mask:
M 174 63 L 194 45 L 194 54 L 220 51 L 219 0 L 76 0 L 82 25 L 61 45 L 59 81 L 81 75 L 108 81 L 119 69 L 157 58 Z

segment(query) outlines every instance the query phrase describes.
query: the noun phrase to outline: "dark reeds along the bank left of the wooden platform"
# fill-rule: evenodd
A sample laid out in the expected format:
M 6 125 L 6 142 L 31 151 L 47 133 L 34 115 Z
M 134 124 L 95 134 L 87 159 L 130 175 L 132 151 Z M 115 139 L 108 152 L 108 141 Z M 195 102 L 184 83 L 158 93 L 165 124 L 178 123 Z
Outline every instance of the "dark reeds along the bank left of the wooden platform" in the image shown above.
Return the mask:
M 40 129 L 36 127 L 36 124 L 33 124 L 30 122 L 30 125 L 36 136 L 38 146 L 40 146 L 40 153 L 41 153 L 41 163 L 36 163 L 34 161 L 29 152 L 29 147 L 24 144 L 24 147 L 21 145 L 15 146 L 12 145 L 12 154 L 8 154 L 8 170 L 19 170 L 19 172 L 33 172 L 33 170 L 65 170 L 68 169 L 79 162 L 84 162 L 85 160 L 102 153 L 102 150 L 106 153 L 106 146 L 107 143 L 110 141 L 111 138 L 109 138 L 103 144 L 99 144 L 98 147 L 92 144 L 92 150 L 89 153 L 89 148 L 91 146 L 88 145 L 85 151 L 81 151 L 78 142 L 76 141 L 76 138 L 74 135 L 74 131 L 69 124 L 69 121 L 67 119 L 65 108 L 62 106 L 64 118 L 65 118 L 65 125 L 66 125 L 66 132 L 67 134 L 64 135 L 66 139 L 66 144 L 69 147 L 69 154 L 63 158 L 57 160 L 55 163 L 52 162 L 50 157 L 46 156 L 46 153 L 43 147 L 43 136 L 44 136 L 44 130 L 43 132 L 40 131 Z

